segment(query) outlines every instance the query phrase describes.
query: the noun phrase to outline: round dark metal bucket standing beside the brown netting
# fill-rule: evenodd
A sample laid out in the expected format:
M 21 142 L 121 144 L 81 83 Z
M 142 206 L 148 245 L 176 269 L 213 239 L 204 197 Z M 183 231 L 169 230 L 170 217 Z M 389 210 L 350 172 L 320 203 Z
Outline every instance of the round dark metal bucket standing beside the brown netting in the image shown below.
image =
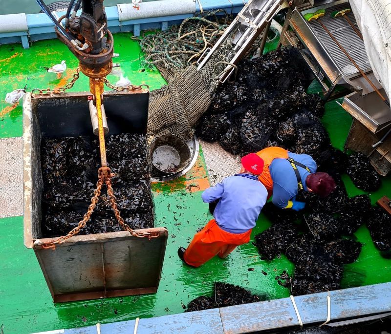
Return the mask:
M 191 159 L 187 143 L 173 134 L 156 137 L 151 143 L 149 153 L 152 166 L 163 174 L 182 171 Z

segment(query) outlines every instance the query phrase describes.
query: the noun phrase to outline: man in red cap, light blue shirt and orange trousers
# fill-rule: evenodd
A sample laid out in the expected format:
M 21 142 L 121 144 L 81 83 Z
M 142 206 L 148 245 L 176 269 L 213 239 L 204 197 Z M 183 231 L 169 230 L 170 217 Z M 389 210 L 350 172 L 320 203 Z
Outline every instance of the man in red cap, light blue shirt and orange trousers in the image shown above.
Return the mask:
M 199 267 L 216 255 L 225 258 L 237 246 L 250 241 L 251 230 L 266 203 L 267 191 L 258 180 L 262 159 L 250 153 L 241 159 L 241 164 L 239 174 L 202 193 L 205 203 L 218 201 L 213 212 L 215 218 L 195 234 L 187 249 L 178 249 L 180 259 L 186 264 Z

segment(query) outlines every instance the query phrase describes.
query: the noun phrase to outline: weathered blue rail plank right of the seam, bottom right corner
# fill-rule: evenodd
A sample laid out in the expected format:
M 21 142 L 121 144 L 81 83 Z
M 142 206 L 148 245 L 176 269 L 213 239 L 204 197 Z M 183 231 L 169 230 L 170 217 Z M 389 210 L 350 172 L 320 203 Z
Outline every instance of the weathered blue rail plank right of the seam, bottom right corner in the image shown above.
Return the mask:
M 327 292 L 295 297 L 303 324 L 320 324 L 327 317 Z M 391 311 L 391 283 L 330 292 L 331 321 Z M 298 326 L 289 298 L 220 309 L 225 334 L 253 333 Z

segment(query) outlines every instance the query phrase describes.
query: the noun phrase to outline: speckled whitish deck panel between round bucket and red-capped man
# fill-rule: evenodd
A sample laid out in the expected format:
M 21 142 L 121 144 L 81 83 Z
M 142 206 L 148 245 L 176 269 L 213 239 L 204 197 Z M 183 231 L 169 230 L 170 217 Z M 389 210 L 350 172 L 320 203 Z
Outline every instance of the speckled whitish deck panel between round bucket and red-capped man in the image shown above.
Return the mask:
M 240 171 L 240 157 L 224 150 L 218 143 L 208 143 L 200 140 L 209 180 L 212 186 L 223 178 L 237 174 Z

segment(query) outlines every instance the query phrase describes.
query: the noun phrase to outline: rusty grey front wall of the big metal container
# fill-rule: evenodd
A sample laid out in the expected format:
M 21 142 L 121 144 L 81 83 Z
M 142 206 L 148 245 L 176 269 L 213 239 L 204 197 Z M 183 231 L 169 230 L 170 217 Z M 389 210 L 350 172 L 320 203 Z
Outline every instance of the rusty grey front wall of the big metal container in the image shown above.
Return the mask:
M 55 250 L 34 242 L 54 302 L 95 299 L 157 291 L 168 231 L 153 228 L 149 240 L 127 231 L 74 236 Z

